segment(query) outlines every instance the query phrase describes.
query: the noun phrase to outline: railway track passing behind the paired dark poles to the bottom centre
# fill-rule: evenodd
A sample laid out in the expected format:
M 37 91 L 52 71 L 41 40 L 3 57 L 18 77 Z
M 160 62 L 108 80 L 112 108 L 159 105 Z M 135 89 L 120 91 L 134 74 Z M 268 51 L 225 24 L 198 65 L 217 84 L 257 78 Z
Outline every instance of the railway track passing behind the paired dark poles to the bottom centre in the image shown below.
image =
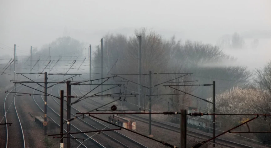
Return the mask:
M 62 86 L 62 85 L 61 85 Z M 60 87 L 57 90 L 58 95 L 59 95 L 59 91 L 60 91 Z M 53 87 L 51 89 L 51 94 L 52 94 L 52 90 Z M 60 96 L 60 95 L 59 95 Z M 54 101 L 56 103 L 59 104 L 59 101 L 57 101 L 54 97 L 52 97 L 54 99 Z M 59 104 L 60 105 L 60 104 Z M 65 108 L 66 110 L 66 108 Z M 71 114 L 76 116 L 75 113 L 80 112 L 79 110 L 77 110 L 76 108 L 74 108 L 73 106 L 71 106 Z M 74 122 L 74 121 L 73 121 Z M 102 124 L 99 121 L 96 121 L 90 117 L 86 117 L 84 118 L 84 120 L 82 120 L 82 122 L 84 122 L 85 124 L 87 124 L 88 126 L 94 128 L 95 130 L 99 130 L 99 129 L 111 129 L 109 126 Z M 93 126 L 95 125 L 95 126 Z M 122 147 L 125 148 L 133 148 L 133 147 L 146 147 L 145 145 L 140 144 L 139 142 L 117 132 L 117 131 L 107 131 L 107 132 L 101 132 L 103 135 L 105 135 L 106 137 L 108 137 L 110 140 L 115 141 L 116 143 L 120 144 Z

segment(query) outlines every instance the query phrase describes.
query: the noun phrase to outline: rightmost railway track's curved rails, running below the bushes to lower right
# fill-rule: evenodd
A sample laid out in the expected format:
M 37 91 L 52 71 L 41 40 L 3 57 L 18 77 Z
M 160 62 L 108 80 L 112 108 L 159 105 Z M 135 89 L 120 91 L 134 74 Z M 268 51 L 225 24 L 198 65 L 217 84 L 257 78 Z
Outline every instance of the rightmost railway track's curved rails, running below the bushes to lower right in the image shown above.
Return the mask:
M 84 93 L 80 90 L 80 85 L 79 85 L 79 91 L 80 91 L 80 93 L 81 93 L 82 95 L 84 95 Z M 74 92 L 74 90 L 73 90 L 73 92 Z M 77 95 L 76 93 L 74 93 L 74 94 Z M 78 95 L 77 95 L 77 96 L 78 96 Z M 91 98 L 89 98 L 89 99 L 92 100 L 92 101 L 94 101 L 95 103 L 98 103 L 98 104 L 100 104 L 100 105 L 103 105 L 102 103 L 100 103 L 100 102 L 98 102 L 98 101 L 95 101 L 94 99 L 91 99 Z M 87 102 L 88 102 L 88 101 L 87 101 Z M 90 103 L 90 102 L 88 102 L 88 103 Z M 93 104 L 93 103 L 90 103 L 90 104 L 95 105 L 95 104 Z M 97 106 L 97 105 L 95 105 L 95 106 Z M 108 106 L 108 105 L 106 105 L 106 107 L 111 108 L 111 107 Z M 104 108 L 104 107 L 102 107 L 102 108 L 103 108 L 103 109 L 106 109 L 106 108 Z M 139 120 L 139 121 L 144 122 L 144 123 L 147 123 L 147 124 L 149 123 L 149 122 L 148 122 L 148 119 L 143 118 L 143 117 L 140 117 L 140 116 L 138 116 L 138 115 L 133 115 L 133 114 L 131 114 L 131 115 L 127 115 L 127 116 L 129 116 L 129 118 L 132 118 L 132 119 L 135 119 L 135 120 Z M 135 117 L 137 117 L 137 118 L 134 118 L 134 117 L 131 117 L 131 116 L 135 116 Z M 153 124 L 153 123 L 156 123 L 156 124 Z M 160 128 L 166 129 L 166 130 L 171 130 L 171 131 L 175 131 L 175 132 L 180 132 L 180 128 L 179 128 L 179 127 L 172 126 L 172 125 L 165 124 L 165 123 L 161 123 L 161 122 L 158 122 L 158 121 L 152 120 L 152 125 L 154 125 L 154 126 L 156 126 L 156 127 L 160 127 Z M 187 130 L 187 131 L 189 131 L 189 130 Z M 192 132 L 192 131 L 190 131 L 190 132 Z M 201 137 L 199 137 L 199 136 L 204 136 L 204 137 L 212 138 L 212 136 L 209 136 L 209 135 L 205 135 L 205 134 L 201 134 L 201 133 L 195 133 L 195 132 L 193 132 L 193 133 L 194 133 L 194 134 L 187 133 L 187 135 L 192 136 L 192 137 L 196 137 L 196 138 L 200 138 L 200 139 L 203 139 L 203 138 L 201 138 Z M 219 141 L 221 141 L 221 142 L 225 142 L 225 143 L 232 144 L 232 145 L 236 145 L 236 146 L 241 146 L 241 147 L 245 147 L 245 148 L 254 148 L 254 147 L 251 147 L 251 146 L 248 146 L 248 145 L 243 145 L 243 144 L 236 143 L 236 142 L 233 142 L 233 141 L 228 141 L 228 140 L 224 140 L 224 139 L 220 139 L 220 138 L 216 138 L 216 139 L 219 140 Z M 206 139 L 204 139 L 204 140 L 206 140 Z M 216 142 L 216 143 L 219 144 L 219 145 L 223 145 L 223 146 L 235 148 L 235 147 L 233 147 L 233 146 L 226 145 L 226 144 L 223 144 L 223 143 L 219 143 L 219 142 Z

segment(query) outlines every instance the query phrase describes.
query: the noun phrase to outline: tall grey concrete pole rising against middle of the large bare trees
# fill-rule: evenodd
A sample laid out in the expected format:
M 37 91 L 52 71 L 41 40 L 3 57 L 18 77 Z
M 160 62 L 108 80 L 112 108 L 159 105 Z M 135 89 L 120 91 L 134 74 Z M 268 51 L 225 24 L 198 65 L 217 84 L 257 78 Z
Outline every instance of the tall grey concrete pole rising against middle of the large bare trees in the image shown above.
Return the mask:
M 142 86 L 141 86 L 141 35 L 138 36 L 138 44 L 139 44 L 139 49 L 138 49 L 138 108 L 140 108 L 140 101 L 141 101 L 141 92 L 142 92 Z

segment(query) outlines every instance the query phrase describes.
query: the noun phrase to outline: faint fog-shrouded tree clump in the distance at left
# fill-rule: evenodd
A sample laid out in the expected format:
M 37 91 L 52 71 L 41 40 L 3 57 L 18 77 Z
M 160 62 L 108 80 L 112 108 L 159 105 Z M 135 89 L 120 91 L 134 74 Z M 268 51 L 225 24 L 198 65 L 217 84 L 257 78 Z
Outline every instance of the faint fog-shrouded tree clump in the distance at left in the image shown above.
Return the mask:
M 61 59 L 62 56 L 66 58 L 62 58 L 62 60 L 66 62 L 71 62 L 72 60 L 78 58 L 79 56 L 85 56 L 83 55 L 83 50 L 85 49 L 86 43 L 81 42 L 79 40 L 76 40 L 69 36 L 59 37 L 52 41 L 49 44 L 44 44 L 41 48 L 38 49 L 38 47 L 32 47 L 32 71 L 42 71 L 40 70 L 45 68 L 45 66 L 49 63 L 47 69 L 49 69 L 50 66 L 53 66 L 56 64 L 58 59 Z M 50 51 L 50 56 L 49 56 Z M 19 67 L 22 67 L 22 69 L 18 69 L 18 72 L 24 71 L 24 69 L 29 69 L 30 67 L 30 53 L 28 56 L 23 57 L 22 61 L 18 62 Z M 71 60 L 71 61 L 69 61 Z M 37 62 L 37 63 L 36 63 Z M 61 62 L 61 61 L 59 61 Z M 35 65 L 36 64 L 36 65 Z M 57 65 L 55 66 L 54 70 L 56 69 Z M 50 69 L 51 70 L 51 69 Z M 48 72 L 50 71 L 48 70 Z M 30 70 L 26 71 L 29 72 Z

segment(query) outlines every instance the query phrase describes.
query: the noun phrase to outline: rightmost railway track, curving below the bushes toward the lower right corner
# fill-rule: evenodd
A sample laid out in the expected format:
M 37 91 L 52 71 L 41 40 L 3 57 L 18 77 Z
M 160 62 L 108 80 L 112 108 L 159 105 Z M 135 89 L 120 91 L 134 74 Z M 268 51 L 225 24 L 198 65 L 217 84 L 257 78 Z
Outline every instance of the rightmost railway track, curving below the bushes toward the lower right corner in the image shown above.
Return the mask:
M 74 92 L 74 87 L 72 89 L 73 89 L 73 92 Z M 79 85 L 79 92 L 82 95 L 84 95 L 84 93 L 80 90 L 80 85 Z M 74 92 L 74 94 L 77 95 L 75 92 Z M 103 105 L 102 103 L 100 103 L 98 101 L 95 101 L 94 99 L 91 99 L 91 98 L 89 98 L 89 99 L 92 102 L 89 102 L 87 100 L 85 100 L 85 101 L 92 104 L 92 105 L 95 105 L 97 107 Z M 110 110 L 111 106 L 106 105 L 106 106 L 104 106 L 102 108 L 105 109 L 105 110 Z M 124 109 L 127 109 L 127 108 L 124 108 Z M 126 116 L 131 118 L 131 119 L 135 119 L 137 121 L 144 122 L 146 124 L 149 123 L 147 118 L 141 117 L 139 115 L 129 114 L 129 115 L 126 115 Z M 172 125 L 169 125 L 169 124 L 161 123 L 161 122 L 158 122 L 158 121 L 155 121 L 155 120 L 152 120 L 152 125 L 156 126 L 156 127 L 159 127 L 159 128 L 162 128 L 162 129 L 171 130 L 171 131 L 174 131 L 174 132 L 180 132 L 180 127 L 176 127 L 176 126 L 172 126 Z M 199 139 L 202 139 L 202 140 L 212 138 L 212 136 L 209 136 L 209 135 L 206 135 L 206 134 L 196 133 L 196 132 L 189 131 L 189 130 L 187 130 L 187 131 L 188 131 L 187 135 L 195 137 L 195 138 L 199 138 Z M 255 148 L 255 147 L 252 147 L 252 146 L 249 146 L 249 145 L 243 145 L 243 144 L 240 144 L 240 143 L 236 143 L 236 142 L 229 141 L 229 140 L 224 140 L 224 139 L 221 139 L 221 138 L 216 138 L 216 143 L 218 145 L 223 145 L 223 146 L 230 147 L 230 148 L 239 148 L 239 147 L 242 147 L 242 148 Z

